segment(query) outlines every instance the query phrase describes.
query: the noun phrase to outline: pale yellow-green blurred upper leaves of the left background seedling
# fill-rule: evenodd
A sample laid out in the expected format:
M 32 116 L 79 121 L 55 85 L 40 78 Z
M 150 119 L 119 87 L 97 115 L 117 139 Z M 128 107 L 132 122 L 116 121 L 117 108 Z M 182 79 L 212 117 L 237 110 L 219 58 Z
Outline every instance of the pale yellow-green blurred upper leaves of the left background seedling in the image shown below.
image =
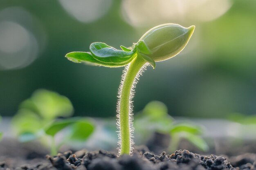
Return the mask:
M 58 93 L 39 89 L 19 106 L 13 116 L 12 124 L 18 135 L 36 133 L 58 117 L 69 117 L 73 114 L 70 100 Z

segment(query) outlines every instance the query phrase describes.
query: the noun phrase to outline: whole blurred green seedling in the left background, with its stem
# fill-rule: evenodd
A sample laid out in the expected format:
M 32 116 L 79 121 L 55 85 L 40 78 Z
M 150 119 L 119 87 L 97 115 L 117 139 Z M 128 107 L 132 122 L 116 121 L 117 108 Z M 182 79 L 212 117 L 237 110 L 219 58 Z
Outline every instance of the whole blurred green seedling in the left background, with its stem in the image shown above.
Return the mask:
M 58 149 L 69 141 L 85 141 L 94 131 L 92 119 L 69 117 L 73 114 L 70 100 L 58 93 L 39 89 L 29 99 L 19 106 L 11 124 L 21 142 L 33 141 L 47 137 L 51 140 L 51 155 L 56 155 Z M 67 129 L 64 139 L 56 144 L 55 137 Z

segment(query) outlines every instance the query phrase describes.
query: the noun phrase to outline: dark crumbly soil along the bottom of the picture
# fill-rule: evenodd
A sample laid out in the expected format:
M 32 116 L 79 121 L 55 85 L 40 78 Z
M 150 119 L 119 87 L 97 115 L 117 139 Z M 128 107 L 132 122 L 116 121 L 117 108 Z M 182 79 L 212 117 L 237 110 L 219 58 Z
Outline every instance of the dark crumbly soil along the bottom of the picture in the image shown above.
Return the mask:
M 144 146 L 138 147 L 132 156 L 117 157 L 104 150 L 80 150 L 33 160 L 18 168 L 3 161 L 0 162 L 0 170 L 256 170 L 256 154 L 227 159 L 223 156 L 203 156 L 188 150 L 177 150 L 171 155 L 166 152 L 154 155 Z

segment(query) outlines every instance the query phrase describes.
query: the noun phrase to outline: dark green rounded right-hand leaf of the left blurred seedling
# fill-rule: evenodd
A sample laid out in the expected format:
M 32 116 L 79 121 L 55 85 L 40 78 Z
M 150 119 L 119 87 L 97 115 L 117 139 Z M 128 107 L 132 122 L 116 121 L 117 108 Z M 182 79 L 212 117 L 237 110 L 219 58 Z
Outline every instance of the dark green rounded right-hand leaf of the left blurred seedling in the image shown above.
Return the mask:
M 71 127 L 70 140 L 85 141 L 94 131 L 94 125 L 87 120 L 77 122 Z

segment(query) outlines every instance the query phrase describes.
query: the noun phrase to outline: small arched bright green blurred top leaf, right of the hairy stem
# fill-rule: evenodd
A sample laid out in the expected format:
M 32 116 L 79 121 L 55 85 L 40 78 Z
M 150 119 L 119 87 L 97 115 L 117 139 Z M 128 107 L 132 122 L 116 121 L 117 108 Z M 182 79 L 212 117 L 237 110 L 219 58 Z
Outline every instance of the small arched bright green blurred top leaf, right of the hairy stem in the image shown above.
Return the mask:
M 171 134 L 179 132 L 187 132 L 190 134 L 202 134 L 202 128 L 191 124 L 176 124 L 170 129 Z

